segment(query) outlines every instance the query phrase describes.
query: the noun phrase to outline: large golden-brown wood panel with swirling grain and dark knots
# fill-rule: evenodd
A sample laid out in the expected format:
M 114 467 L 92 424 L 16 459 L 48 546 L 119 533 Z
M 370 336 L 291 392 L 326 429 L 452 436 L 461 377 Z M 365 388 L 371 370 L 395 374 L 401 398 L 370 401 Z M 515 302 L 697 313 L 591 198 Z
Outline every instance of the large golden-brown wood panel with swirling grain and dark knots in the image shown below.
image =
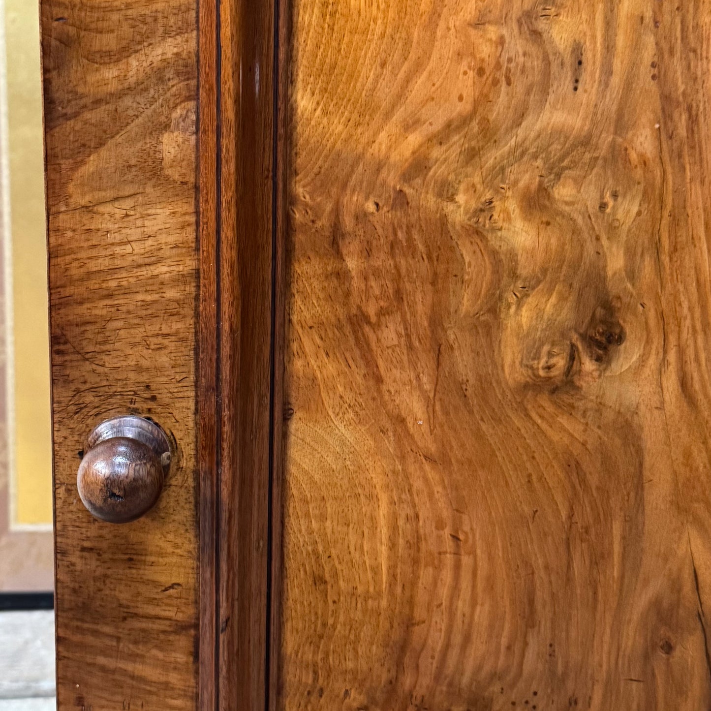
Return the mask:
M 289 41 L 279 707 L 709 707 L 711 3 Z

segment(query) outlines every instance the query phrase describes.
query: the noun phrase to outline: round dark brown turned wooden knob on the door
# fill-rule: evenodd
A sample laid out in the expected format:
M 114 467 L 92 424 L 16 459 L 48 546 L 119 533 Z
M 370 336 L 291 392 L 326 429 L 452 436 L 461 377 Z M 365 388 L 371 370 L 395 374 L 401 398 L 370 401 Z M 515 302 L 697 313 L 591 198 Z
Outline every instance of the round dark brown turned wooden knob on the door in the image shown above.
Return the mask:
M 170 461 L 168 439 L 154 422 L 134 415 L 107 419 L 87 439 L 79 496 L 96 518 L 128 523 L 158 501 Z

